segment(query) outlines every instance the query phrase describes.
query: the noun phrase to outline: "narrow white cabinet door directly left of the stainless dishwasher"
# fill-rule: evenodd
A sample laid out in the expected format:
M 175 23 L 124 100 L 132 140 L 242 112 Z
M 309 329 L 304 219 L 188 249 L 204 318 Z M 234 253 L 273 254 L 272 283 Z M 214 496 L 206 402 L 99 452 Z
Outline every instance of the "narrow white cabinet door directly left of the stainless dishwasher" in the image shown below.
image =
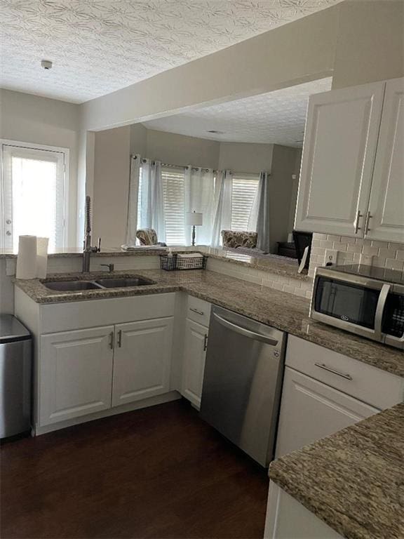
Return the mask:
M 208 328 L 187 319 L 185 322 L 182 395 L 198 408 L 201 406 Z

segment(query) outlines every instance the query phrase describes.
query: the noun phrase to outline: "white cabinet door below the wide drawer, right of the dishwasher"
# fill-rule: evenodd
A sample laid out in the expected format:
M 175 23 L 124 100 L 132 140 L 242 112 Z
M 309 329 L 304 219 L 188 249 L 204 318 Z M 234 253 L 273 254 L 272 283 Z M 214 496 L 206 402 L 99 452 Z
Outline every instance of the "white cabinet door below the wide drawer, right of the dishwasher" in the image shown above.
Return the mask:
M 276 458 L 378 412 L 373 406 L 286 367 Z

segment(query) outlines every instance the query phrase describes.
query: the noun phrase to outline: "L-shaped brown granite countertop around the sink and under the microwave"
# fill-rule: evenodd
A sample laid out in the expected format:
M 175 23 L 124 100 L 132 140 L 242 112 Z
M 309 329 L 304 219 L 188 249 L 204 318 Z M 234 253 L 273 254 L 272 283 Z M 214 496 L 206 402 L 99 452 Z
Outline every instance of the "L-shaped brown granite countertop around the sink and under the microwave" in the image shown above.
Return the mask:
M 196 298 L 244 314 L 263 324 L 309 340 L 335 352 L 340 352 L 363 363 L 404 377 L 403 351 L 346 333 L 309 319 L 309 300 L 297 295 L 274 290 L 267 286 L 241 281 L 224 274 L 203 271 L 165 272 L 139 270 L 114 274 L 69 274 L 69 279 L 95 279 L 112 276 L 140 276 L 156 284 L 134 288 L 108 288 L 83 292 L 51 291 L 39 279 L 15 280 L 15 285 L 37 303 L 58 303 L 101 298 L 119 298 L 129 295 L 185 291 Z M 48 280 L 65 280 L 66 274 L 57 274 Z

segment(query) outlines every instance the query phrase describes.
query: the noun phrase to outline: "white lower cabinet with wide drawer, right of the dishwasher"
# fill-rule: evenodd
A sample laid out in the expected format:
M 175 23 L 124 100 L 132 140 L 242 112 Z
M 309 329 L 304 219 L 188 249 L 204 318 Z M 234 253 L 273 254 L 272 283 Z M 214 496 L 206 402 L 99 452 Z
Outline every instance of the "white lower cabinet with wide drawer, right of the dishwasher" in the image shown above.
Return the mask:
M 276 458 L 403 401 L 404 380 L 288 336 Z

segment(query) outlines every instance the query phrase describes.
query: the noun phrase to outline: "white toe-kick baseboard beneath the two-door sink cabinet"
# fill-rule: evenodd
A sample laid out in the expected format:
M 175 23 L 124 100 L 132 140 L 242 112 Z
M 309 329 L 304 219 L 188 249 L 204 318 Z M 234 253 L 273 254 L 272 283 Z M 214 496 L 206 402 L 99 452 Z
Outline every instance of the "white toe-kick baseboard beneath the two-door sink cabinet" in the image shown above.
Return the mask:
M 52 425 L 44 425 L 43 427 L 36 426 L 32 430 L 32 436 L 40 436 L 47 432 L 53 432 L 54 430 L 65 429 L 66 427 L 72 427 L 73 425 L 80 425 L 88 421 L 94 421 L 95 419 L 108 418 L 111 415 L 118 413 L 130 412 L 133 410 L 139 410 L 140 408 L 148 408 L 149 406 L 156 406 L 156 404 L 163 404 L 165 402 L 176 401 L 181 399 L 180 393 L 177 391 L 170 391 L 156 397 L 149 397 L 148 399 L 142 399 L 141 401 L 130 402 L 123 404 L 122 406 L 116 406 L 103 410 L 97 413 L 91 413 L 90 415 L 82 415 L 80 418 L 68 419 L 67 421 L 61 421 L 60 423 L 53 423 Z

